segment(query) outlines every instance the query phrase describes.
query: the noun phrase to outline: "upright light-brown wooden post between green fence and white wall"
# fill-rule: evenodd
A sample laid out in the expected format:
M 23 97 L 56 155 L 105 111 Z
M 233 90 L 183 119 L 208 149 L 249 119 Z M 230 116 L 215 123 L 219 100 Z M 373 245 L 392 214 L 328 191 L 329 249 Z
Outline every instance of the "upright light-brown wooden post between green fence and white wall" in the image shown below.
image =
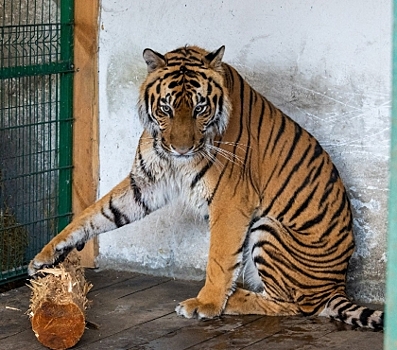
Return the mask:
M 99 0 L 75 1 L 72 205 L 78 215 L 97 199 L 98 186 L 98 11 Z M 98 241 L 81 252 L 82 265 L 96 267 Z

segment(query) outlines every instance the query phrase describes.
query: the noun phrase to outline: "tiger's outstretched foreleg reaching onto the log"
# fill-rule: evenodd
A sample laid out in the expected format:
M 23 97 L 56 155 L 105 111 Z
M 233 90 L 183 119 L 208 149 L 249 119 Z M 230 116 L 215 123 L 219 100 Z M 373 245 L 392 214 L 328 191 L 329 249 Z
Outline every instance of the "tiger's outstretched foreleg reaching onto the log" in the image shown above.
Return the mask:
M 139 179 L 139 178 L 138 178 Z M 81 250 L 84 244 L 100 233 L 111 231 L 139 220 L 162 206 L 145 181 L 128 176 L 107 195 L 85 209 L 68 226 L 56 235 L 30 262 L 29 275 L 56 265 L 73 249 Z M 165 203 L 164 203 L 165 204 Z

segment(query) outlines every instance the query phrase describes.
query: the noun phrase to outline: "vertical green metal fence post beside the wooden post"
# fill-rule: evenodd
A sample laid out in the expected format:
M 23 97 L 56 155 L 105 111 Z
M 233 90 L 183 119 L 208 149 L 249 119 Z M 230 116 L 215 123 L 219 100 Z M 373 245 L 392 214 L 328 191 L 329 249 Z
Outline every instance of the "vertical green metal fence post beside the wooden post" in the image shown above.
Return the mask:
M 69 61 L 73 68 L 73 19 L 74 1 L 63 0 L 61 5 L 61 61 Z M 59 202 L 58 214 L 72 211 L 72 142 L 73 130 L 73 74 L 60 74 L 59 109 Z M 62 230 L 70 221 L 70 217 L 61 217 L 58 221 L 58 231 Z

